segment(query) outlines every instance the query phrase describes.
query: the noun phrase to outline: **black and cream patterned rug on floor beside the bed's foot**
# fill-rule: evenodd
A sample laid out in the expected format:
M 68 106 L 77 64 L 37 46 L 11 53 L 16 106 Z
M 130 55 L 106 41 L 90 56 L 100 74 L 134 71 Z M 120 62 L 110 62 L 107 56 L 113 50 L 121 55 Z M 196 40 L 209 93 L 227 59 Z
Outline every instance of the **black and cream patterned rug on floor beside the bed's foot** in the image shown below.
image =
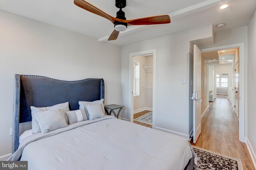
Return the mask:
M 193 170 L 242 170 L 240 159 L 231 158 L 209 150 L 194 147 L 198 158 L 198 164 L 194 164 Z

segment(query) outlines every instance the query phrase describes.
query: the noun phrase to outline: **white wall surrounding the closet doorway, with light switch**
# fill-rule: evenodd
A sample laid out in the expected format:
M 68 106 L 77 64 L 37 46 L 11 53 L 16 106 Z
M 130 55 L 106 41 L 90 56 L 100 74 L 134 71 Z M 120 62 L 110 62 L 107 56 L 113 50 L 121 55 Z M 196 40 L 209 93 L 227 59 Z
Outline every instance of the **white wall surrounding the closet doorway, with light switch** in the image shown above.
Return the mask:
M 156 49 L 156 129 L 189 138 L 190 41 L 212 37 L 212 25 L 122 47 L 122 117 L 128 119 L 129 54 Z M 178 132 L 178 133 L 176 133 Z

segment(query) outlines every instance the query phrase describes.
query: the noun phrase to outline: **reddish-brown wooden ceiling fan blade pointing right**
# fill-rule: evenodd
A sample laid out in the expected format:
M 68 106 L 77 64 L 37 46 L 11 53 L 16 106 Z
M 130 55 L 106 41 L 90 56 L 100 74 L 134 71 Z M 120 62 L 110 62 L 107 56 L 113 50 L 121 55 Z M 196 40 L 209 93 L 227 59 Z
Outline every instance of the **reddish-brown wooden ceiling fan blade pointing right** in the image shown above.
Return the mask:
M 168 15 L 163 16 L 152 16 L 146 18 L 139 18 L 135 20 L 123 20 L 131 25 L 154 25 L 154 24 L 163 24 L 163 23 L 170 23 L 171 19 Z

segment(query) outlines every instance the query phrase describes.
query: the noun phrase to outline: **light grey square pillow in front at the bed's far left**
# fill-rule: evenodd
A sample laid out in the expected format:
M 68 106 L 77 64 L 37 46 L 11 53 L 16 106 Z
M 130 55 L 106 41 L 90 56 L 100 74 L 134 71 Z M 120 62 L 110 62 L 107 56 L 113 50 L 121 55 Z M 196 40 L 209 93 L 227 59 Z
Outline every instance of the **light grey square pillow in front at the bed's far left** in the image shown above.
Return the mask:
M 67 127 L 62 109 L 46 110 L 34 113 L 42 133 L 48 133 L 63 127 Z

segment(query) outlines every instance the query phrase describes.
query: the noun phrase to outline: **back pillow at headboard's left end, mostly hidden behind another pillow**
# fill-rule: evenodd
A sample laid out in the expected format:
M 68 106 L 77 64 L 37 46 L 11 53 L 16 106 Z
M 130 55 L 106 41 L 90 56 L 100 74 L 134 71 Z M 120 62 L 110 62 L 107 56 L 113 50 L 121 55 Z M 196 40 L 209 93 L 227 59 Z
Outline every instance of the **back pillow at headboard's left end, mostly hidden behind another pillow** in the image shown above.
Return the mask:
M 46 111 L 46 110 L 56 110 L 56 109 L 62 108 L 63 112 L 65 113 L 64 117 L 65 117 L 66 123 L 68 124 L 68 117 L 66 115 L 66 111 L 69 111 L 69 103 L 68 102 L 62 103 L 62 104 L 56 104 L 56 105 L 50 106 L 50 107 L 31 106 L 30 108 L 31 108 L 31 114 L 32 114 L 32 133 L 33 134 L 41 132 L 40 126 L 38 125 L 38 121 L 34 117 L 34 113 L 36 113 L 36 112 L 42 112 L 42 111 Z

